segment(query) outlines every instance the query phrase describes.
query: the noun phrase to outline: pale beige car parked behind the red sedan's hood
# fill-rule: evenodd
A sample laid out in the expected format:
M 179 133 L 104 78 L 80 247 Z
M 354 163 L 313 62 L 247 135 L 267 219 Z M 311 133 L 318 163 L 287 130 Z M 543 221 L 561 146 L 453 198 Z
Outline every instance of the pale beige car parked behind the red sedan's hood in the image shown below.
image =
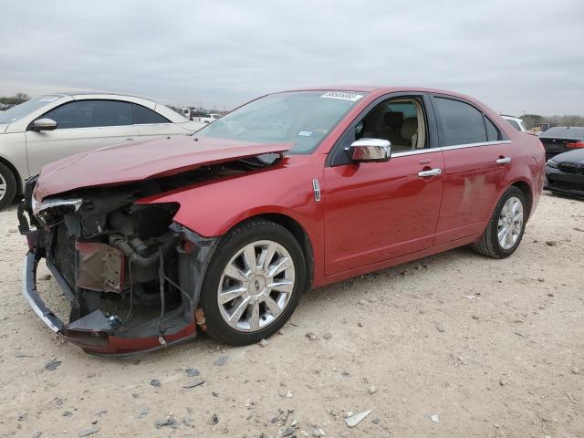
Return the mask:
M 150 99 L 50 94 L 0 112 L 0 208 L 48 162 L 125 141 L 188 135 L 204 126 Z

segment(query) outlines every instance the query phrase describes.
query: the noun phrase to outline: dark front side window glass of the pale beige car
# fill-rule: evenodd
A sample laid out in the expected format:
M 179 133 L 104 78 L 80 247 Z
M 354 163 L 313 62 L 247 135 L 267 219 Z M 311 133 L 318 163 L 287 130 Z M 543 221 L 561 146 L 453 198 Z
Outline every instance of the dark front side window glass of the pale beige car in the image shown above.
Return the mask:
M 50 110 L 43 118 L 57 121 L 57 130 L 131 125 L 131 104 L 117 100 L 76 100 Z

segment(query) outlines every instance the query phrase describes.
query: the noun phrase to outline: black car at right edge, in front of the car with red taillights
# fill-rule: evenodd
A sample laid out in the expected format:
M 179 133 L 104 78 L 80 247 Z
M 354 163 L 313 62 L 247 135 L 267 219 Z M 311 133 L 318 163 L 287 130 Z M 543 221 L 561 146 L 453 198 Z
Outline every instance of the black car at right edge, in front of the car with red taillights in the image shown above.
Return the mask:
M 544 189 L 584 198 L 584 149 L 560 153 L 547 160 Z

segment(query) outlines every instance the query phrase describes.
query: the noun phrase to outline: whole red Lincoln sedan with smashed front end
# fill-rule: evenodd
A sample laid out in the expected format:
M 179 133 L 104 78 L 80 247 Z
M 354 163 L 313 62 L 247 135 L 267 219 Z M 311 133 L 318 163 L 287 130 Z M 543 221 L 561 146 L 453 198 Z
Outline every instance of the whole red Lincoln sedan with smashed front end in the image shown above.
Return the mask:
M 84 152 L 29 179 L 23 294 L 93 353 L 198 331 L 257 342 L 310 287 L 462 245 L 511 255 L 544 174 L 537 137 L 463 95 L 270 94 L 193 136 Z M 67 322 L 36 289 L 43 259 L 70 302 Z

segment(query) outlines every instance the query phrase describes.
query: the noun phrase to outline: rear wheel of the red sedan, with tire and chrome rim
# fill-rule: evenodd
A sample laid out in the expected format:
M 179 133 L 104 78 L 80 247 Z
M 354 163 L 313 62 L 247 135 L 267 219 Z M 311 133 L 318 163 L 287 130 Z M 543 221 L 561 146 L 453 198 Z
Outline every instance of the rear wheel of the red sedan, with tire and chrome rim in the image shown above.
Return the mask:
M 517 187 L 509 187 L 495 206 L 485 233 L 474 244 L 482 255 L 505 258 L 521 243 L 527 220 L 526 197 Z

